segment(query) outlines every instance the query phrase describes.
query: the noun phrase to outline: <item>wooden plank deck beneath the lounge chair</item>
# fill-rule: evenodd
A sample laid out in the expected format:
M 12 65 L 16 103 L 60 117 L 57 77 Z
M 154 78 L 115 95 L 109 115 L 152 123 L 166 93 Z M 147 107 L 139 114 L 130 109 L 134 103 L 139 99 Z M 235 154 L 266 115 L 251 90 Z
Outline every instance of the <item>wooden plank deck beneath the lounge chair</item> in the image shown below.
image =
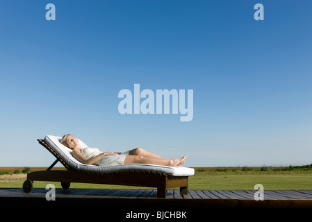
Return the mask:
M 312 208 L 312 190 L 265 190 L 264 200 L 254 200 L 255 190 L 189 190 L 180 195 L 169 189 L 166 198 L 156 198 L 156 189 L 56 189 L 56 200 L 47 201 L 46 189 L 34 188 L 24 193 L 19 188 L 0 188 L 0 203 L 6 207 L 150 207 L 198 209 L 226 208 Z

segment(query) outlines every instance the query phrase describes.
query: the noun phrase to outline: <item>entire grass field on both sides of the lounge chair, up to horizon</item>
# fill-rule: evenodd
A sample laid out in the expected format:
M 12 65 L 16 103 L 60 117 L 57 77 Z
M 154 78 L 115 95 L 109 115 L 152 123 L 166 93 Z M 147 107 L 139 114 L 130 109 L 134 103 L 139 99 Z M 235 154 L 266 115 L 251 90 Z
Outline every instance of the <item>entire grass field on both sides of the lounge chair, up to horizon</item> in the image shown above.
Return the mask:
M 45 168 L 0 167 L 0 187 L 22 187 L 26 180 L 26 172 L 38 170 L 45 170 Z M 34 187 L 45 188 L 48 183 L 60 187 L 60 182 L 40 181 L 35 181 Z M 312 189 L 312 166 L 202 167 L 195 168 L 195 176 L 189 177 L 189 189 L 254 189 L 256 184 L 262 184 L 264 189 Z M 71 188 L 138 187 L 72 183 Z

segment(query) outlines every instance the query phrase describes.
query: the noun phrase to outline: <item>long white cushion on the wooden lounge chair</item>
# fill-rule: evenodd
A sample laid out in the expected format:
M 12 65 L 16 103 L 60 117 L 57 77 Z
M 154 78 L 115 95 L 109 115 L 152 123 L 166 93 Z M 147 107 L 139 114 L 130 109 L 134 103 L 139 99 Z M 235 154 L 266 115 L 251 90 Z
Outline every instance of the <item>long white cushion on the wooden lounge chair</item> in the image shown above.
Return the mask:
M 99 173 L 109 173 L 116 171 L 151 171 L 156 173 L 165 173 L 172 176 L 192 176 L 194 175 L 194 169 L 189 167 L 165 167 L 161 165 L 154 164 L 121 164 L 111 167 L 100 167 L 95 165 L 83 164 L 76 160 L 72 155 L 72 150 L 60 144 L 62 137 L 56 137 L 52 135 L 47 135 L 44 137 L 44 141 L 49 144 L 51 148 L 54 149 L 56 153 L 72 168 L 79 171 L 88 171 L 88 172 L 99 172 Z M 79 139 L 79 144 L 85 148 L 88 147 Z

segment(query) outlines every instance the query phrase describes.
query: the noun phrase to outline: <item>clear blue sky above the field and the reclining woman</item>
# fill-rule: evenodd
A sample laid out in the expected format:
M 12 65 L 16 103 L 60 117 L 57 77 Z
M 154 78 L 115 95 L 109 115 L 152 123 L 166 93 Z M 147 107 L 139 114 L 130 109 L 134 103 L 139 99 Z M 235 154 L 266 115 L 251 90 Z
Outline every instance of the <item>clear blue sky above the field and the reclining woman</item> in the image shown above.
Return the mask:
M 186 167 L 311 164 L 311 6 L 1 1 L 0 167 L 49 166 L 36 139 L 67 133 L 102 151 L 187 154 Z M 193 89 L 192 121 L 120 114 L 135 83 Z

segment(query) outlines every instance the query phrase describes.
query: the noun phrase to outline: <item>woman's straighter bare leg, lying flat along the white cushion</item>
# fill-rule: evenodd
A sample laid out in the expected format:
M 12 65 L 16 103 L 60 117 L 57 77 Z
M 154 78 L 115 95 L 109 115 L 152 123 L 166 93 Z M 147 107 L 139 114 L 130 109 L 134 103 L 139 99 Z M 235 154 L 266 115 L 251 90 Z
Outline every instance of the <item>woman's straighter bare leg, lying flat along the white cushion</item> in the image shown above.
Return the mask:
M 169 167 L 181 166 L 186 160 L 186 155 L 181 158 L 174 159 L 157 159 L 157 158 L 148 158 L 142 155 L 126 155 L 124 159 L 124 164 L 155 164 Z

